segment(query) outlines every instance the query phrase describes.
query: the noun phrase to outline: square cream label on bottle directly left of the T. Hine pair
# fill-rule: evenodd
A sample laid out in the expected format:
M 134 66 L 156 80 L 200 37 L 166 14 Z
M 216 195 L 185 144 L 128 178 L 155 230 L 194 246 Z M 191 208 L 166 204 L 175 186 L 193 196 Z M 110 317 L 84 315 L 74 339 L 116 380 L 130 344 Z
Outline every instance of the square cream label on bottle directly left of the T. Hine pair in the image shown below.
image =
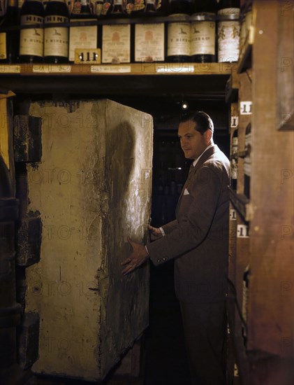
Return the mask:
M 135 62 L 164 61 L 164 23 L 135 25 Z

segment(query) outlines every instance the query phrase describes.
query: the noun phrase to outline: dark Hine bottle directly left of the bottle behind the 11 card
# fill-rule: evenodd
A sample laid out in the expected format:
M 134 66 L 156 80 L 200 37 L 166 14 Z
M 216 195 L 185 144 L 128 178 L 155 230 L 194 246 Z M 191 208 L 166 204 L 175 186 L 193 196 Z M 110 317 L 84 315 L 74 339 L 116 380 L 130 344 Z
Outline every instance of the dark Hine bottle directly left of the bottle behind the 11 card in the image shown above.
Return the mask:
M 50 0 L 44 18 L 44 61 L 68 62 L 68 27 L 50 27 L 52 23 L 67 23 L 69 20 L 66 0 Z

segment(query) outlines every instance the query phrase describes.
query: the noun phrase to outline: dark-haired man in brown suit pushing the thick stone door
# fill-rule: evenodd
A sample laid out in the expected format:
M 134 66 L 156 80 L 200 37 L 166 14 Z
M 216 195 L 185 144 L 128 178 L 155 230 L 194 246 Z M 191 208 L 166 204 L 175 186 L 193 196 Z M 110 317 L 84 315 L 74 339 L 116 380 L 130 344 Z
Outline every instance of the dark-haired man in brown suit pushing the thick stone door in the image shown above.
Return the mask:
M 161 265 L 175 258 L 179 300 L 192 384 L 226 383 L 226 274 L 228 269 L 229 161 L 214 145 L 214 126 L 202 111 L 179 123 L 185 158 L 193 160 L 176 219 L 152 228 L 148 246 L 128 238 L 133 253 L 123 274 L 150 258 Z

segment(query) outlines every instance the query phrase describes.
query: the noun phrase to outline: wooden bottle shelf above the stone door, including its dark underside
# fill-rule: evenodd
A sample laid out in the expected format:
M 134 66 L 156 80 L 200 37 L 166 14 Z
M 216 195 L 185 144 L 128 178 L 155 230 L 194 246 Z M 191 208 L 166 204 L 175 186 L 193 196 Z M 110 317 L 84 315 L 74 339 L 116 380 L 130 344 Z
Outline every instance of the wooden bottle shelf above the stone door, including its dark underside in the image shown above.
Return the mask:
M 0 64 L 1 90 L 15 93 L 225 96 L 237 63 Z

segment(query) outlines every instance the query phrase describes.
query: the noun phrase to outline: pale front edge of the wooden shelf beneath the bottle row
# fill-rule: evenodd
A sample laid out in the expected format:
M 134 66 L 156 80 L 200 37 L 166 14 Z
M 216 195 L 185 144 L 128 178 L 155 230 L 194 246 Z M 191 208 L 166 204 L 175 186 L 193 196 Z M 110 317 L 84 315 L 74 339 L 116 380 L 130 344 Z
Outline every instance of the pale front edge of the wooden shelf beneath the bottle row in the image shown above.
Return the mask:
M 0 76 L 230 75 L 237 63 L 0 64 Z

